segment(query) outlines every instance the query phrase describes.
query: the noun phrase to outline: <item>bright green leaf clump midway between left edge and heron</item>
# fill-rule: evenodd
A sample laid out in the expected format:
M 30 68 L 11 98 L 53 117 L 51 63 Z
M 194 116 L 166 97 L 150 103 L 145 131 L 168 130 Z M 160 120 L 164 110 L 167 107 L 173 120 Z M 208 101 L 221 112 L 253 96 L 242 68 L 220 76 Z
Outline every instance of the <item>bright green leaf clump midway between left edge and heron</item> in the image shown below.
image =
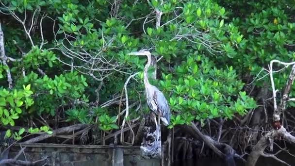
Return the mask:
M 20 85 L 22 83 L 31 83 L 32 90 L 38 93 L 29 113 L 49 113 L 54 116 L 61 105 L 73 104 L 77 100 L 88 101 L 84 94 L 88 86 L 86 78 L 78 72 L 55 75 L 53 79 L 47 75 L 39 77 L 32 72 L 23 78 L 23 82 L 19 82 Z

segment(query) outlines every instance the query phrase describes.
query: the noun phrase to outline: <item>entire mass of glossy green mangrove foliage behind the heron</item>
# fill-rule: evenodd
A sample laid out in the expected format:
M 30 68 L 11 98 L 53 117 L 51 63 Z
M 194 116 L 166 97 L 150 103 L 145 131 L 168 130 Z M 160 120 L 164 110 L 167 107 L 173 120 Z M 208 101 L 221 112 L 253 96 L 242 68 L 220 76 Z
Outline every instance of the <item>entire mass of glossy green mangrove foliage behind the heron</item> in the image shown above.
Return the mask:
M 168 100 L 170 127 L 231 119 L 256 107 L 244 92 L 245 76 L 257 75 L 272 59 L 294 58 L 294 9 L 277 0 L 123 0 L 118 9 L 112 0 L 2 1 L 3 12 L 14 20 L 2 24 L 7 55 L 19 60 L 9 62 L 14 88 L 31 84 L 34 93 L 34 104 L 22 116 L 62 115 L 67 121 L 97 123 L 103 131 L 117 129 L 118 110 L 126 106 L 124 83 L 135 72 L 140 74 L 127 84 L 128 118 L 143 116 L 148 112 L 142 73 L 146 58 L 127 53 L 146 48 L 163 56 L 158 81 L 150 82 Z M 156 10 L 163 14 L 159 27 Z M 25 12 L 35 12 L 38 23 L 48 16 L 42 19 L 43 35 L 36 25 L 32 41 L 13 17 L 23 19 Z M 27 31 L 30 25 L 26 20 Z M 6 69 L 0 66 L 3 82 Z M 278 73 L 276 84 L 282 87 L 286 77 Z

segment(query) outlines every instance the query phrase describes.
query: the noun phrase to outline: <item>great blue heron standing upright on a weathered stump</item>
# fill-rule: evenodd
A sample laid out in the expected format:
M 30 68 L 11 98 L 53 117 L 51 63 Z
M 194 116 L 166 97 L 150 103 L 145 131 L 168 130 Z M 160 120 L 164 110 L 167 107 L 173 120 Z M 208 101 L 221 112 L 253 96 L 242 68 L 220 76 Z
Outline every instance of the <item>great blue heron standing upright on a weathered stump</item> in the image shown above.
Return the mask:
M 151 53 L 148 50 L 140 50 L 138 52 L 131 52 L 129 55 L 144 55 L 148 57 L 148 63 L 144 69 L 144 84 L 147 95 L 147 103 L 150 110 L 158 115 L 158 123 L 160 125 L 160 119 L 164 125 L 170 124 L 170 108 L 164 94 L 154 85 L 148 82 L 148 67 L 151 64 Z M 158 126 L 155 119 L 156 127 Z

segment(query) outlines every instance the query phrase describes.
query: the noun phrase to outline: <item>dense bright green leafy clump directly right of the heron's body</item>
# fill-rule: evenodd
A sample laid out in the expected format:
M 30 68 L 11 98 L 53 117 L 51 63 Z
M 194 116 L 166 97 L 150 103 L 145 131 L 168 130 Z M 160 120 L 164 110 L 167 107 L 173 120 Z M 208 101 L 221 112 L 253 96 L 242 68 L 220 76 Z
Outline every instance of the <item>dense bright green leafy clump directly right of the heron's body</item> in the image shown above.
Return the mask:
M 232 118 L 235 113 L 244 116 L 256 107 L 253 98 L 242 91 L 244 83 L 238 80 L 232 66 L 218 69 L 201 55 L 191 55 L 176 67 L 174 74 L 163 74 L 160 84 L 170 92 L 169 105 L 180 116 L 172 124 L 189 124 L 192 120 Z

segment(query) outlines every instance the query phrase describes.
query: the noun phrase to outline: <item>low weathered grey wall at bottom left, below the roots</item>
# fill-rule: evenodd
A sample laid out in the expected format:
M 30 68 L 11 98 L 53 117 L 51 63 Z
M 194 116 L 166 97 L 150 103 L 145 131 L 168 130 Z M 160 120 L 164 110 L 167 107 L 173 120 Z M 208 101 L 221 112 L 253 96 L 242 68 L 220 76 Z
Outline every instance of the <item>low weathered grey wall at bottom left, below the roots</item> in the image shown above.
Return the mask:
M 42 166 L 160 166 L 160 160 L 143 159 L 139 146 L 95 146 L 61 144 L 17 144 L 8 158 L 25 148 L 19 160 L 36 161 L 48 157 Z M 114 160 L 113 160 L 114 159 Z M 123 159 L 123 160 L 122 160 Z

